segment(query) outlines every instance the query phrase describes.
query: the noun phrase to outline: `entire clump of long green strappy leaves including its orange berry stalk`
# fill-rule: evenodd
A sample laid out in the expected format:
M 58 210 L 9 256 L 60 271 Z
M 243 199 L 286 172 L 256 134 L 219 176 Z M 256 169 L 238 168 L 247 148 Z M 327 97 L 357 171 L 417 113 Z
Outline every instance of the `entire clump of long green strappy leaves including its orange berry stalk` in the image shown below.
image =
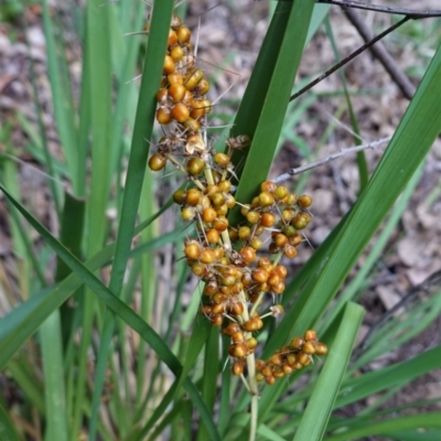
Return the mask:
M 174 11 L 173 0 L 157 0 L 147 13 L 141 1 L 86 3 L 75 9 L 84 23 L 77 105 L 56 37 L 63 29 L 42 1 L 64 161 L 50 152 L 36 88 L 39 128 L 17 118 L 52 178 L 58 235 L 24 206 L 9 128 L 0 133 L 8 153 L 0 157 L 0 190 L 20 287 L 6 282 L 0 266 L 0 367 L 7 387 L 21 397 L 10 405 L 0 395 L 0 440 L 440 435 L 439 415 L 402 417 L 400 408 L 378 408 L 440 368 L 441 346 L 362 370 L 426 330 L 441 311 L 439 297 L 401 309 L 353 348 L 364 316 L 356 298 L 441 128 L 441 51 L 370 176 L 359 157 L 356 202 L 292 278 L 284 262 L 303 240 L 314 195 L 295 194 L 291 184 L 267 176 L 304 47 L 323 20 L 331 29 L 330 7 L 278 2 L 234 123 L 218 137 L 226 142 L 215 143 L 208 121 L 223 116 L 207 99 L 209 78 L 195 56 L 185 8 Z M 138 67 L 140 83 L 128 83 Z M 357 131 L 347 90 L 346 100 Z M 163 174 L 154 180 L 154 173 Z M 172 190 L 164 190 L 169 200 L 161 194 L 158 207 L 162 185 Z M 114 222 L 109 208 L 117 213 Z M 178 220 L 160 235 L 166 211 Z M 342 289 L 385 219 L 365 266 Z M 43 245 L 33 243 L 35 233 Z M 166 289 L 154 257 L 163 249 Z M 191 276 L 200 283 L 189 300 Z M 379 398 L 351 420 L 337 412 L 374 395 Z

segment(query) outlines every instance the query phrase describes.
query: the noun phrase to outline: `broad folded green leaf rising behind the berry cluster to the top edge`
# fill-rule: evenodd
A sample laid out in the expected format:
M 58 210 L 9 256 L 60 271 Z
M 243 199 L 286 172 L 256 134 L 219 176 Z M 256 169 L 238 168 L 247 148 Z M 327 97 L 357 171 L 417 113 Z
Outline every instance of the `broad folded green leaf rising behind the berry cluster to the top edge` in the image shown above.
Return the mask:
M 248 135 L 252 138 L 245 168 L 237 171 L 239 186 L 236 198 L 241 203 L 251 202 L 260 183 L 267 179 L 313 9 L 313 0 L 297 1 L 293 4 L 279 2 L 265 36 L 232 129 L 233 136 Z M 237 164 L 243 154 L 237 152 L 233 161 Z M 238 206 L 228 218 L 233 224 L 239 220 Z

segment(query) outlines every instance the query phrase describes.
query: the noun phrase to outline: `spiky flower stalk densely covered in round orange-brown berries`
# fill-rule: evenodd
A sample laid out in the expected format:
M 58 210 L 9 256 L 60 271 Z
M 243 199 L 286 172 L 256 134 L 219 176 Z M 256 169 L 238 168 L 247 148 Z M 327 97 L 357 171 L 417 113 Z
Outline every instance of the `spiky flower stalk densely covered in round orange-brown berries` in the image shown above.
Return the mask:
M 157 120 L 165 133 L 149 159 L 152 171 L 171 163 L 186 179 L 173 194 L 181 217 L 195 227 L 184 255 L 192 272 L 204 283 L 201 314 L 229 337 L 232 374 L 240 376 L 251 396 L 257 418 L 259 383 L 273 385 L 326 354 L 315 331 L 304 330 L 267 359 L 255 359 L 256 334 L 262 319 L 283 314 L 277 299 L 283 293 L 288 269 L 282 256 L 295 258 L 311 220 L 309 195 L 298 196 L 283 185 L 265 181 L 250 201 L 236 201 L 232 155 L 246 154 L 251 139 L 243 133 L 226 141 L 225 153 L 215 152 L 207 139 L 212 103 L 209 82 L 194 54 L 192 33 L 173 15 L 164 56 Z M 241 218 L 230 224 L 228 213 L 240 206 Z M 269 309 L 268 298 L 273 304 Z M 255 430 L 255 428 L 254 428 Z

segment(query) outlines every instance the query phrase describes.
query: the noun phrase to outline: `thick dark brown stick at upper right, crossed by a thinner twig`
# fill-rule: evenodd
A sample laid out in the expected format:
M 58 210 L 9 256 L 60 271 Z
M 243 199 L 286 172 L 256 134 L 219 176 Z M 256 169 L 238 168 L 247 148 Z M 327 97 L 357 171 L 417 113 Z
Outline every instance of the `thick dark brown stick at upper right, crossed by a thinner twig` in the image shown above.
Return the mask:
M 351 8 L 344 8 L 345 14 L 354 28 L 358 31 L 365 43 L 368 43 L 375 37 L 374 32 L 366 25 L 361 13 Z M 407 99 L 411 99 L 416 87 L 407 77 L 407 75 L 399 68 L 395 60 L 390 56 L 389 52 L 381 42 L 369 47 L 370 52 L 383 64 L 385 69 L 389 73 L 392 80 L 402 92 Z

